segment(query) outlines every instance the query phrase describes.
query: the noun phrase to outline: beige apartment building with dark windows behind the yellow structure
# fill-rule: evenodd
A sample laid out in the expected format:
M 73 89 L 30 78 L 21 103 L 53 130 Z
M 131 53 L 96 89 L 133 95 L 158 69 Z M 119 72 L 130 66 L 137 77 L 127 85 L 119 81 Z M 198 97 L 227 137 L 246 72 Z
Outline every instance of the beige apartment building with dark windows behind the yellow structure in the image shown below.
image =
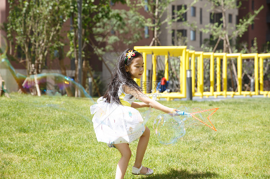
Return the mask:
M 175 10 L 180 10 L 182 5 L 187 8 L 185 14 L 183 14 L 183 19 L 173 22 L 171 26 L 165 24 L 161 28 L 160 42 L 164 46 L 170 45 L 186 45 L 187 48 L 193 49 L 196 51 L 202 51 L 201 45 L 203 44 L 204 39 L 209 39 L 211 34 L 205 34 L 201 31 L 202 28 L 205 28 L 205 25 L 209 23 L 215 23 L 220 21 L 222 13 L 219 8 L 213 10 L 213 18 L 211 18 L 211 2 L 208 0 L 198 0 L 196 4 L 190 6 L 191 1 L 189 0 L 179 0 L 174 1 L 168 7 L 168 12 L 165 16 L 173 16 Z M 235 29 L 235 24 L 237 23 L 238 18 L 238 9 L 228 9 L 226 11 L 227 23 L 229 27 L 234 27 L 229 30 L 229 33 L 232 33 Z M 195 24 L 197 28 L 192 26 L 186 26 L 185 24 Z M 181 38 L 179 38 L 181 34 Z

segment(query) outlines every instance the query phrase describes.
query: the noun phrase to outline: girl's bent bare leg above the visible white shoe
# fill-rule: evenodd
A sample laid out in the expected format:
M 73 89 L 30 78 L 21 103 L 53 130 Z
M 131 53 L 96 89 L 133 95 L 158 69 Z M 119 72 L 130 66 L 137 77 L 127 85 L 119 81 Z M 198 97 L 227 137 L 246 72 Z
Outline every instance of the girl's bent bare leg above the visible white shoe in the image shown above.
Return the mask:
M 140 137 L 138 142 L 137 153 L 133 167 L 140 168 L 142 166 L 143 156 L 146 151 L 149 138 L 150 138 L 150 130 L 148 127 L 145 127 L 145 131 L 143 132 L 143 135 Z M 141 173 L 147 173 L 147 171 L 148 169 L 143 167 Z

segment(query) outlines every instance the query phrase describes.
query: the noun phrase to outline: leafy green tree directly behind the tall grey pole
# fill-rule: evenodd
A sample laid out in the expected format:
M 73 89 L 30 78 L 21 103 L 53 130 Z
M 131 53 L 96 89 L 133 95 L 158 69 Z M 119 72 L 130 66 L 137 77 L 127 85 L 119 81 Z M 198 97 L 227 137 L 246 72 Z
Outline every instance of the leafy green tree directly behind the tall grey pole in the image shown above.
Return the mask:
M 125 1 L 114 0 L 112 3 Z M 143 28 L 143 21 L 137 12 L 127 12 L 125 10 L 112 9 L 110 0 L 87 1 L 82 4 L 82 58 L 83 58 L 83 80 L 85 87 L 87 72 L 90 72 L 89 63 L 93 54 L 99 56 L 105 64 L 107 70 L 111 72 L 109 66 L 113 62 L 105 59 L 105 52 L 110 52 L 116 43 L 122 42 L 130 44 L 137 42 L 140 35 L 140 29 Z M 75 79 L 78 75 L 78 13 L 77 2 L 72 0 L 69 17 L 72 21 L 73 30 L 68 33 L 70 40 L 70 50 L 68 57 L 75 59 Z

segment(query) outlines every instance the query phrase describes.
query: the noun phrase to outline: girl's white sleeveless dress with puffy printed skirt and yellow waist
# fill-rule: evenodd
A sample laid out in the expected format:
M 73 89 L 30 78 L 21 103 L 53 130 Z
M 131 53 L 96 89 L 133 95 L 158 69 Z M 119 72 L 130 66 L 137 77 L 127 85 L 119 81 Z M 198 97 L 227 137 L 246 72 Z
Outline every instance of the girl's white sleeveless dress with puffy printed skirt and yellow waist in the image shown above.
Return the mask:
M 127 143 L 140 138 L 145 130 L 143 117 L 140 112 L 131 107 L 135 97 L 123 91 L 122 85 L 118 90 L 118 97 L 122 105 L 107 103 L 100 97 L 97 104 L 90 107 L 96 138 L 99 142 L 105 142 L 109 147 L 113 144 Z

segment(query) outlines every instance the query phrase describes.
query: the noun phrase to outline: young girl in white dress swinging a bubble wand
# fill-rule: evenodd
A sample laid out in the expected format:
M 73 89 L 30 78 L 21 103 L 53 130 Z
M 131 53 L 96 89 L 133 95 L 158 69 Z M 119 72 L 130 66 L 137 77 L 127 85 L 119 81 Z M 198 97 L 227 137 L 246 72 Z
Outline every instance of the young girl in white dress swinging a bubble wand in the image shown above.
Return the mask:
M 151 175 L 154 172 L 142 165 L 150 130 L 143 125 L 143 118 L 135 108 L 151 106 L 171 116 L 179 115 L 176 109 L 163 106 L 142 92 L 134 81 L 134 78 L 141 78 L 142 74 L 143 56 L 133 49 L 125 50 L 116 62 L 104 97 L 100 97 L 98 104 L 90 107 L 91 114 L 95 113 L 92 121 L 97 140 L 115 147 L 121 153 L 116 179 L 124 178 L 131 157 L 129 144 L 137 139 L 139 142 L 132 174 Z M 135 98 L 141 102 L 134 102 Z

